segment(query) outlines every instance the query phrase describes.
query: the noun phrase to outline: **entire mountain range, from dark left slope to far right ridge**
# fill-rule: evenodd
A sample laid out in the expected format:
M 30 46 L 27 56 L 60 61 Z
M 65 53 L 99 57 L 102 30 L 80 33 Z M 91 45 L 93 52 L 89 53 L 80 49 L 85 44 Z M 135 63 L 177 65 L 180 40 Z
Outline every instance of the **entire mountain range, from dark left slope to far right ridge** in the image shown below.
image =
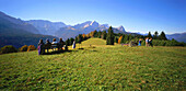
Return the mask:
M 50 22 L 47 20 L 24 21 L 0 12 L 0 47 L 4 45 L 13 45 L 18 48 L 23 45 L 37 46 L 40 38 L 49 38 L 51 41 L 53 38 L 62 37 L 66 41 L 78 34 L 88 34 L 94 30 L 107 31 L 108 27 L 108 24 L 100 24 L 96 21 L 86 21 L 75 25 L 67 25 L 62 22 Z M 113 27 L 113 30 L 114 33 L 131 34 L 126 32 L 121 25 Z M 167 35 L 167 38 L 175 38 L 178 42 L 186 43 L 186 33 Z

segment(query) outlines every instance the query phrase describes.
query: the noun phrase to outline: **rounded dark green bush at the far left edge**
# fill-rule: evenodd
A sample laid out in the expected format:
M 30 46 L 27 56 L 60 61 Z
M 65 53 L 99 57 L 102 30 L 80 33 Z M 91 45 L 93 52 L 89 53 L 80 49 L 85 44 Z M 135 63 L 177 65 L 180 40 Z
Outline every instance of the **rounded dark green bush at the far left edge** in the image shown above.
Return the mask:
M 18 49 L 13 47 L 12 45 L 8 45 L 1 48 L 2 54 L 8 54 L 8 53 L 16 53 Z

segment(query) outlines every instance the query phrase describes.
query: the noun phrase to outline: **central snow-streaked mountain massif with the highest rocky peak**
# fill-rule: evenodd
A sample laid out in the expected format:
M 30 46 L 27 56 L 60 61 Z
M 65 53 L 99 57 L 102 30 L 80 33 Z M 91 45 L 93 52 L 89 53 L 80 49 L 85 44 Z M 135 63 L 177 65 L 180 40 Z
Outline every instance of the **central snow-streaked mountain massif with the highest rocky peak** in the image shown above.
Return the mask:
M 62 37 L 65 39 L 74 37 L 78 34 L 88 34 L 92 31 L 107 31 L 109 27 L 108 24 L 98 24 L 96 21 L 86 21 L 74 26 L 67 26 L 58 30 L 55 33 L 55 36 Z M 113 27 L 114 33 L 126 33 L 124 26 Z

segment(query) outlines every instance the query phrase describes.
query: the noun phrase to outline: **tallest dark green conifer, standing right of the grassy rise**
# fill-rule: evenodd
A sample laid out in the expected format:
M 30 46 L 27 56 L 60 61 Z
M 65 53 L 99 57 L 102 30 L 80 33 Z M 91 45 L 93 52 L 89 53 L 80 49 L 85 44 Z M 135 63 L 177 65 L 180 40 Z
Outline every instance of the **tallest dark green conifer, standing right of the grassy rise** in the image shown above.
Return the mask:
M 114 45 L 114 33 L 113 33 L 112 26 L 109 26 L 109 29 L 108 29 L 108 34 L 106 37 L 106 45 Z

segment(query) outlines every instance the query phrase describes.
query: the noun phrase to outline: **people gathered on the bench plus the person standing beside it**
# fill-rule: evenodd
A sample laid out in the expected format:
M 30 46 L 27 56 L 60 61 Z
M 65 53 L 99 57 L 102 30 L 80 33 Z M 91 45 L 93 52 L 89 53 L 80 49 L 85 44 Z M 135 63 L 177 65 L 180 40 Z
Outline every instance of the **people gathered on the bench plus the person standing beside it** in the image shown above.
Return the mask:
M 45 49 L 47 49 L 47 53 L 49 49 L 56 50 L 56 48 L 58 50 L 63 50 L 66 46 L 68 45 L 65 45 L 62 38 L 59 38 L 59 42 L 57 42 L 56 38 L 54 38 L 51 43 L 49 42 L 48 38 L 46 39 L 46 43 L 44 43 L 43 39 L 40 39 L 37 47 L 38 55 L 45 54 Z M 73 41 L 72 48 L 75 48 L 75 41 Z

